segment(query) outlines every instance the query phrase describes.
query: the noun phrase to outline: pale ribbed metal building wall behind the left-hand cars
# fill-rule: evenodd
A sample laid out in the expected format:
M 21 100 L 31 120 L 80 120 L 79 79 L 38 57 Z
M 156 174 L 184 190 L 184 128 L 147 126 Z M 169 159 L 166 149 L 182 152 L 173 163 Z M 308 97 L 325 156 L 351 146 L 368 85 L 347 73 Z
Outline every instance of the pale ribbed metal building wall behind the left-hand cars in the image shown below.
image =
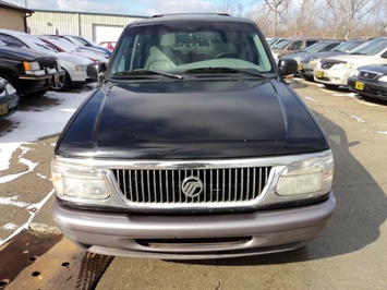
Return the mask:
M 27 19 L 27 26 L 32 35 L 56 34 L 58 31 L 60 35 L 78 35 L 97 43 L 99 39 L 97 39 L 96 26 L 123 28 L 138 19 L 142 17 L 35 10 L 35 13 Z

